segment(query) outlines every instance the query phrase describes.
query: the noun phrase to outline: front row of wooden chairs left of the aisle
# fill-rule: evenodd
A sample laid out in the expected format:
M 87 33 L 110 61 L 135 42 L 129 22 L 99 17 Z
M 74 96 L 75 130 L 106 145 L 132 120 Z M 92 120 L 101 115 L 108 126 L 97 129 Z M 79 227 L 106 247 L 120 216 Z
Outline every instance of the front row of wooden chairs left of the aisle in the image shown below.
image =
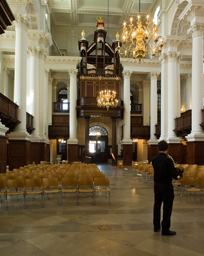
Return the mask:
M 33 179 L 8 179 L 0 180 L 0 202 L 4 196 L 4 208 L 7 210 L 8 196 L 14 196 L 18 202 L 18 195 L 23 196 L 23 208 L 27 208 L 26 196 L 32 195 L 32 200 L 36 194 L 41 195 L 41 206 L 44 207 L 44 194 L 48 195 L 57 193 L 58 204 L 62 205 L 62 199 L 65 198 L 65 193 L 75 193 L 76 204 L 79 205 L 80 193 L 91 193 L 93 205 L 95 205 L 96 192 L 108 193 L 110 204 L 110 185 L 109 178 L 79 177 L 79 178 L 62 178 L 61 184 L 57 177 L 37 178 Z

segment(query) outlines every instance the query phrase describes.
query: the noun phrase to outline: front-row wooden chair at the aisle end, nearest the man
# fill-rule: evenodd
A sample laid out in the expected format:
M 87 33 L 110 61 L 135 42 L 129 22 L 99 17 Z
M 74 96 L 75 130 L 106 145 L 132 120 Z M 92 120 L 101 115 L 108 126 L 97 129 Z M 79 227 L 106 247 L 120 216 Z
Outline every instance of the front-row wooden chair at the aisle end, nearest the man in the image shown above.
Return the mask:
M 95 205 L 95 195 L 96 192 L 107 193 L 109 196 L 109 204 L 111 205 L 111 190 L 109 185 L 109 178 L 95 178 L 94 179 L 94 205 Z

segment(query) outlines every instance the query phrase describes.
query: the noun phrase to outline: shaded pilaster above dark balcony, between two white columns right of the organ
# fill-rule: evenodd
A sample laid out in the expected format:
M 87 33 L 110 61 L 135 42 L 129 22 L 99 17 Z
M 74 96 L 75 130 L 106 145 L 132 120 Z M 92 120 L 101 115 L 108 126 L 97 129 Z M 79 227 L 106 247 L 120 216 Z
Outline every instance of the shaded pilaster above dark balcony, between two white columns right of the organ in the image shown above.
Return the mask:
M 143 84 L 143 125 L 149 125 L 150 81 L 142 81 L 142 84 Z

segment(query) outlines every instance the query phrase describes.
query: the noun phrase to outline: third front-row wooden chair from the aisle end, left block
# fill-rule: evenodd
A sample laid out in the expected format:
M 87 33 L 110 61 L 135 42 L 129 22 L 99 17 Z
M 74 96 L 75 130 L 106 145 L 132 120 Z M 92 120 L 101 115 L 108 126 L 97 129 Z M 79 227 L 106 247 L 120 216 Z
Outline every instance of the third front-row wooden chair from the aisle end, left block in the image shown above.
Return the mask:
M 63 197 L 64 193 L 64 197 Z M 61 203 L 62 198 L 65 198 L 65 193 L 75 193 L 76 204 L 78 205 L 78 178 L 63 178 L 61 190 Z

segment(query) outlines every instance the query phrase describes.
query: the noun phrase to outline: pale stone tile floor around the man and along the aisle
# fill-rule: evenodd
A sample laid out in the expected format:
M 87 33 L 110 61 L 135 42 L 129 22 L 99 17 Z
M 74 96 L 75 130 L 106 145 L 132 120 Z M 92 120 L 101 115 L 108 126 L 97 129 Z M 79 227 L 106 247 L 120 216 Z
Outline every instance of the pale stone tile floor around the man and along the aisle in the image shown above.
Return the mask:
M 99 164 L 110 179 L 111 205 L 104 195 L 96 195 L 96 204 L 88 195 L 66 196 L 62 206 L 57 197 L 0 204 L 0 255 L 77 255 L 77 256 L 150 256 L 204 255 L 204 209 L 189 195 L 189 204 L 180 202 L 175 190 L 171 230 L 176 236 L 163 237 L 152 226 L 153 182 L 132 175 L 130 166 Z M 108 226 L 99 230 L 99 226 Z

